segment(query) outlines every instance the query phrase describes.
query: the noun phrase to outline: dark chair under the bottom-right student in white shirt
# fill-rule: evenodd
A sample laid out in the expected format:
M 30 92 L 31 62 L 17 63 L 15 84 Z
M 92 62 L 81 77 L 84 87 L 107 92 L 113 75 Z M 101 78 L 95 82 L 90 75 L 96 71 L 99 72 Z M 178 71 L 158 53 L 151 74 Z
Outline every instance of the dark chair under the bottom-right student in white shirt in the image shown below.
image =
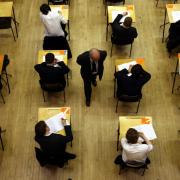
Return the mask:
M 137 162 L 137 161 L 124 162 L 121 156 L 121 161 L 119 164 L 119 174 L 121 174 L 122 169 L 133 168 L 138 170 L 142 169 L 141 176 L 144 176 L 145 170 L 148 169 L 149 163 L 150 163 L 149 159 L 146 162 Z

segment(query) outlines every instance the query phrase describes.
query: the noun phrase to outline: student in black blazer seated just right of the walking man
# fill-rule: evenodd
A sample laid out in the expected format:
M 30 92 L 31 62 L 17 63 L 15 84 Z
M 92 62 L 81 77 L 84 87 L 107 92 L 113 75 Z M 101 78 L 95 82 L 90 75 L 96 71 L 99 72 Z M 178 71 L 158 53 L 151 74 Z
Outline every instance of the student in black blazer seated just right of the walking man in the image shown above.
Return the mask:
M 142 87 L 151 78 L 151 75 L 140 64 L 131 66 L 129 70 L 118 71 L 114 76 L 117 79 L 117 97 L 121 95 L 139 95 L 141 98 Z

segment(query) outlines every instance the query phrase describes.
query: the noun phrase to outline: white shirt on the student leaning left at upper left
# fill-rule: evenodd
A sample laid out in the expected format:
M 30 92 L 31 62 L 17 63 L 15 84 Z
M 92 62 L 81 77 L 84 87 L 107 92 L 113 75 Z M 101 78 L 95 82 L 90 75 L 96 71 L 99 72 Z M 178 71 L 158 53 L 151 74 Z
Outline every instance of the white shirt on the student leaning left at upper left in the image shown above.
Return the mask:
M 40 18 L 45 27 L 45 36 L 64 36 L 61 23 L 66 24 L 67 20 L 61 14 L 49 11 L 45 15 L 40 12 Z

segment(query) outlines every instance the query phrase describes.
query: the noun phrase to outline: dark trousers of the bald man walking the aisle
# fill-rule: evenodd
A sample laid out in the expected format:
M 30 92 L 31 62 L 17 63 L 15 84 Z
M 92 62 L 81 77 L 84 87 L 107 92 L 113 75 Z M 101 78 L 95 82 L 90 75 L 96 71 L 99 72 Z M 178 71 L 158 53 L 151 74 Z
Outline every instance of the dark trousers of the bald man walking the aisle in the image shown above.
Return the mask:
M 91 83 L 96 81 L 96 76 L 97 75 L 92 75 L 91 78 L 83 78 L 86 101 L 91 100 L 91 93 L 92 93 Z

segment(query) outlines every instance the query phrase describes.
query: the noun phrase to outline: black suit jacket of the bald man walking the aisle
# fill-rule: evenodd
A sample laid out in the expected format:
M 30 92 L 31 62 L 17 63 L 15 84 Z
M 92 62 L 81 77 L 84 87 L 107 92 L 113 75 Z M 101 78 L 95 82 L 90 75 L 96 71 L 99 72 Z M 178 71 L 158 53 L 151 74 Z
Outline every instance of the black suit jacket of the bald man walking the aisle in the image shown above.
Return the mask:
M 104 71 L 104 65 L 103 62 L 107 56 L 106 51 L 100 51 L 100 59 L 98 61 L 98 75 L 99 79 L 102 79 L 103 71 Z M 81 76 L 83 79 L 91 79 L 92 72 L 91 72 L 91 61 L 89 56 L 89 51 L 86 51 L 82 54 L 80 54 L 77 57 L 77 63 L 81 66 Z

